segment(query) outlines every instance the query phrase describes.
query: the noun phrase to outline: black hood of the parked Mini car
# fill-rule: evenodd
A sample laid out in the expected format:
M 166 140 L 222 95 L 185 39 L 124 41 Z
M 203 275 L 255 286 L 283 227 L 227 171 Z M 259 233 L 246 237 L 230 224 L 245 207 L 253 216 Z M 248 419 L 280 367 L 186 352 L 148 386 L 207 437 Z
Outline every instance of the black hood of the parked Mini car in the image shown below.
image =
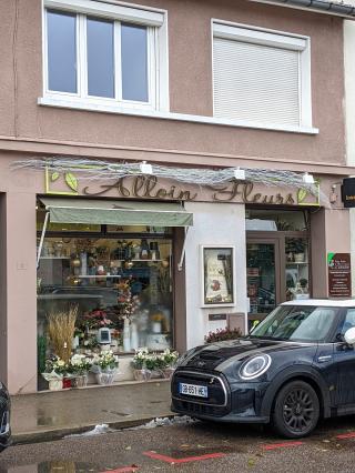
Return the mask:
M 280 351 L 317 346 L 316 343 L 298 343 L 264 339 L 237 339 L 211 343 L 192 350 L 180 366 L 200 370 L 223 371 L 231 362 L 243 362 L 244 359 L 257 353 L 275 353 Z

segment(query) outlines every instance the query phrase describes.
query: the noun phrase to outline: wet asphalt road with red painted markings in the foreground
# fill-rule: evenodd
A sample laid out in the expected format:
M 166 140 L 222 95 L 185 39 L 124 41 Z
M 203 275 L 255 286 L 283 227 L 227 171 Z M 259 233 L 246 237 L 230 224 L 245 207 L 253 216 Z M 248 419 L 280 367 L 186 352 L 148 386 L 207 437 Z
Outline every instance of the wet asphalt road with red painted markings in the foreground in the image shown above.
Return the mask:
M 355 472 L 355 417 L 285 441 L 268 429 L 203 422 L 14 445 L 0 472 Z

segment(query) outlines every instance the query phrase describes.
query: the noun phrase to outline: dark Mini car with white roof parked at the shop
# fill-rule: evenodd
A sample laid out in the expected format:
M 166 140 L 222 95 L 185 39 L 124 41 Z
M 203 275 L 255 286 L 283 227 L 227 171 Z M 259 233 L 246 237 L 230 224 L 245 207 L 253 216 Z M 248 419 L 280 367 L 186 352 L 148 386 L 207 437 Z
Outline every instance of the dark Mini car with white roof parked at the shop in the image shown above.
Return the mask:
M 285 302 L 248 336 L 187 351 L 172 410 L 307 435 L 320 417 L 355 414 L 354 343 L 355 300 Z

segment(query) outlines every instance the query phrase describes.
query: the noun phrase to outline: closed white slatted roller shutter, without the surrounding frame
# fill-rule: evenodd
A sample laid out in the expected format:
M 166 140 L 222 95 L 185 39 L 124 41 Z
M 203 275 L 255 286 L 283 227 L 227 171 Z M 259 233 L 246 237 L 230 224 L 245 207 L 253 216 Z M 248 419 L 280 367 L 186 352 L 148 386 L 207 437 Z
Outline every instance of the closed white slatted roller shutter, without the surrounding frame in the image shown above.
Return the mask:
M 300 51 L 213 41 L 214 115 L 300 125 Z

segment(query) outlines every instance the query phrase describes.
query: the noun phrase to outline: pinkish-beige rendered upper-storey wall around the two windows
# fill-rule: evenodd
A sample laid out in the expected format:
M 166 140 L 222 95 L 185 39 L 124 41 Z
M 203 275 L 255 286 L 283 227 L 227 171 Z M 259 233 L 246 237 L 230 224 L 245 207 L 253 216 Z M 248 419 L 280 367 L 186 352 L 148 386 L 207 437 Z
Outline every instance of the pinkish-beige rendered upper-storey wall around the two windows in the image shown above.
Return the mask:
M 169 11 L 170 101 L 173 112 L 212 114 L 211 18 L 311 36 L 313 125 L 320 129 L 320 134 L 40 107 L 37 104 L 42 95 L 40 0 L 0 2 L 0 134 L 285 161 L 345 163 L 342 19 L 243 0 L 146 0 L 145 4 Z M 11 54 L 13 48 L 14 60 Z M 207 158 L 203 161 L 202 158 L 182 157 L 181 161 L 194 162 L 197 159 L 199 163 L 209 163 Z

